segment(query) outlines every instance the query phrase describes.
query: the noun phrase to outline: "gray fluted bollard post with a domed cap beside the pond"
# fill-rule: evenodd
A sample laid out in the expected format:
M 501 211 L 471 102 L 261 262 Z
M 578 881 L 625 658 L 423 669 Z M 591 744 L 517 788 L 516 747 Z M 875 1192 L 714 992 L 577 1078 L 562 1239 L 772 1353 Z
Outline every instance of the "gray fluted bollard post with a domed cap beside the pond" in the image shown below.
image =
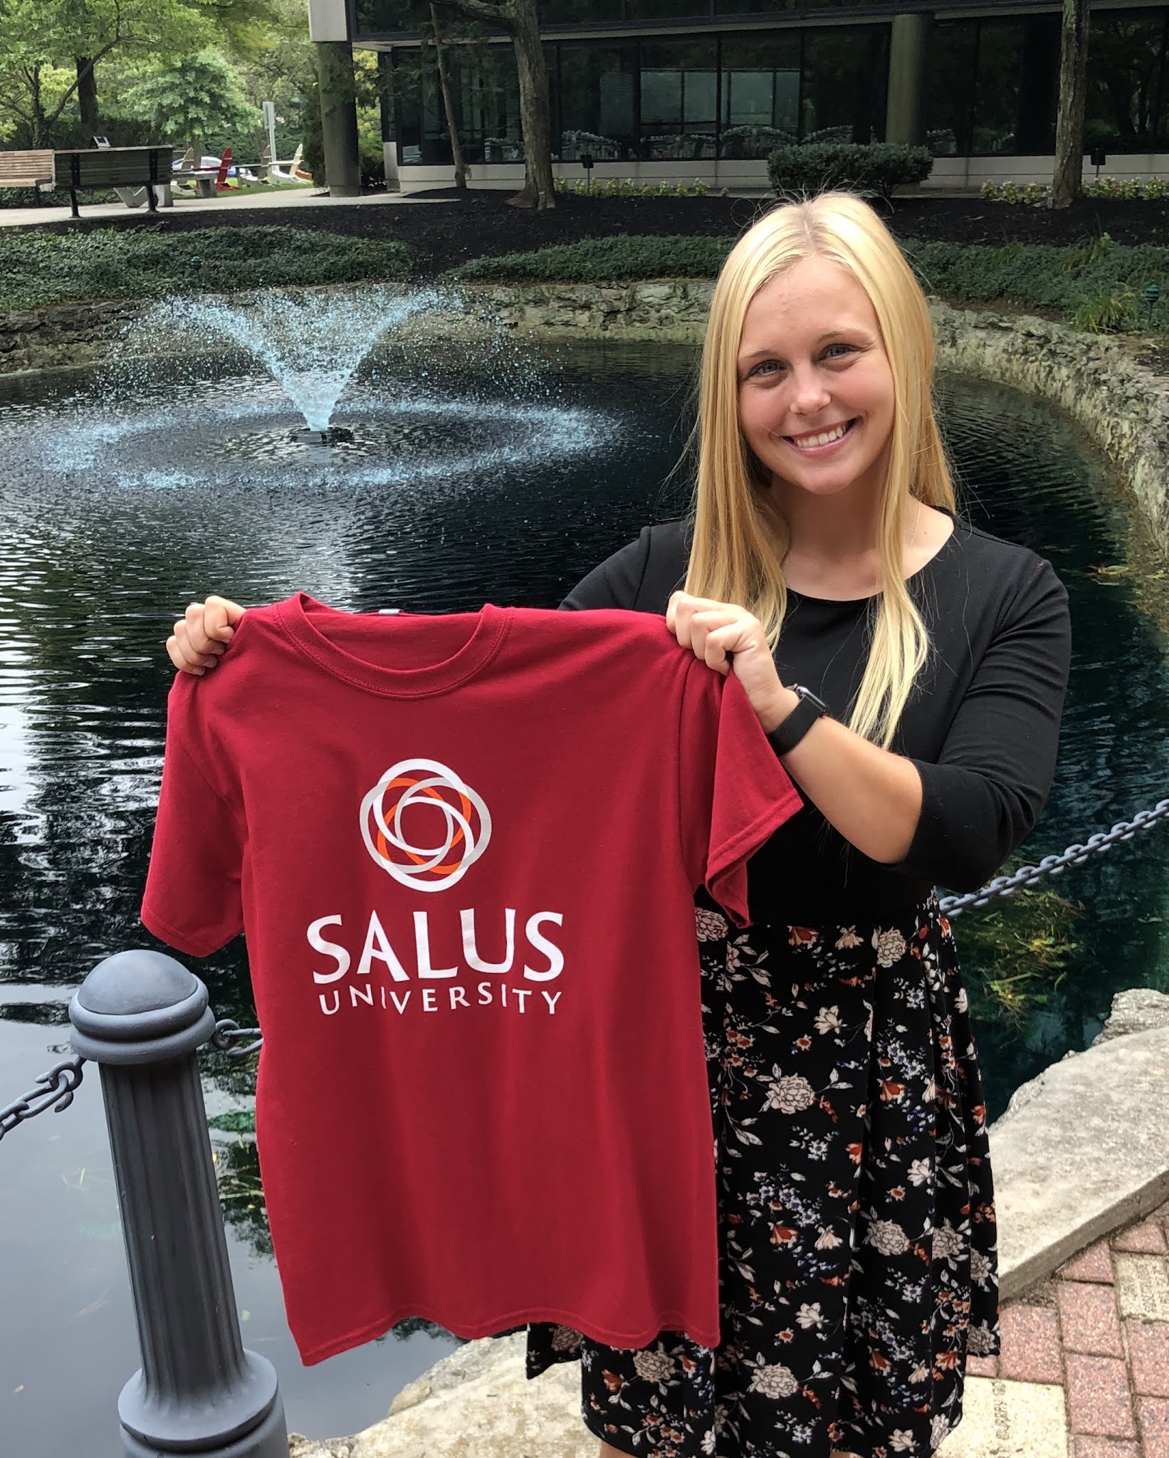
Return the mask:
M 270 1362 L 239 1334 L 195 1048 L 207 989 L 160 952 L 108 956 L 69 1005 L 101 1066 L 141 1368 L 118 1398 L 128 1458 L 289 1458 Z

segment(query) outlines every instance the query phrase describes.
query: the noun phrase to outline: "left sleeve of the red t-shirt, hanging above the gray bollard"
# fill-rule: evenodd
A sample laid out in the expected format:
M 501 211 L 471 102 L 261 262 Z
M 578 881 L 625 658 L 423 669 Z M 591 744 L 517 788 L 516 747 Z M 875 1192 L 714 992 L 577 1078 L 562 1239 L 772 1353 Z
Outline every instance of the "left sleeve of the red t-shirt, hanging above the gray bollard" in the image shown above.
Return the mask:
M 198 682 L 179 674 L 171 690 L 141 920 L 169 946 L 210 956 L 243 930 L 243 830 L 200 745 Z

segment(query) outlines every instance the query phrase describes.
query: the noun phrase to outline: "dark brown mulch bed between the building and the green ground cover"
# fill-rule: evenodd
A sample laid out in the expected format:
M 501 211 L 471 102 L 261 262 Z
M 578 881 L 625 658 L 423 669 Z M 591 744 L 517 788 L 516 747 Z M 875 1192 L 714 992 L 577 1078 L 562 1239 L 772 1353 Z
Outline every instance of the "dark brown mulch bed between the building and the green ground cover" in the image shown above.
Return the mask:
M 159 213 L 166 232 L 200 227 L 246 227 L 287 225 L 322 229 L 359 238 L 401 239 L 417 249 L 420 276 L 433 277 L 468 258 L 526 252 L 548 243 L 571 243 L 582 238 L 614 233 L 689 233 L 733 236 L 765 211 L 770 198 L 587 198 L 557 197 L 555 208 L 536 213 L 510 207 L 509 192 L 453 188 L 417 194 L 420 206 L 335 203 L 328 207 L 236 207 L 207 213 Z M 442 198 L 434 206 L 421 200 Z M 892 232 L 901 238 L 923 238 L 955 243 L 1073 243 L 1108 232 L 1118 243 L 1169 243 L 1169 200 L 1087 200 L 1067 208 L 1048 210 L 1017 203 L 985 203 L 981 198 L 895 198 L 877 204 Z M 70 227 L 140 227 L 146 213 L 41 225 L 50 230 Z

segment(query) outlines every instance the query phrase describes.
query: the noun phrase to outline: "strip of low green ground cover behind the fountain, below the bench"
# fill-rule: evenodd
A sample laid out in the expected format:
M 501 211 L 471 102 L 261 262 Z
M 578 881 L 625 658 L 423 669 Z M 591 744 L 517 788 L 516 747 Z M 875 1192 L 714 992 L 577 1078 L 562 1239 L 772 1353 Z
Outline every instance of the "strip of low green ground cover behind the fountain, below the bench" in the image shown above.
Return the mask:
M 198 254 L 201 267 L 191 267 Z M 410 277 L 405 243 L 296 227 L 0 233 L 0 309 Z

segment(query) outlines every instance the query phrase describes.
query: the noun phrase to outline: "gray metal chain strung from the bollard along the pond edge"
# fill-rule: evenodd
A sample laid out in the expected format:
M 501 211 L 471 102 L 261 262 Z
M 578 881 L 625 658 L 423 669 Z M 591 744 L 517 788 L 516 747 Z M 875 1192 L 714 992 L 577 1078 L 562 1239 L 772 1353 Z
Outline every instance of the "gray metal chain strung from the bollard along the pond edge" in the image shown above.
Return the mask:
M 1157 800 L 1152 811 L 1137 811 L 1131 821 L 1117 821 L 1112 830 L 1089 835 L 1083 846 L 1068 846 L 1063 856 L 1044 856 L 1038 865 L 1020 866 L 1010 876 L 996 876 L 981 889 L 971 891 L 966 895 L 942 897 L 939 907 L 943 916 L 953 919 L 969 907 L 988 905 L 996 898 L 1009 897 L 1014 891 L 1022 891 L 1023 886 L 1031 886 L 1036 881 L 1042 881 L 1045 876 L 1058 876 L 1068 866 L 1082 866 L 1089 856 L 1100 856 L 1118 841 L 1133 840 L 1138 830 L 1156 825 L 1166 815 L 1169 815 L 1169 799 Z M 251 1041 L 245 1042 L 245 1040 Z M 236 1047 L 241 1042 L 243 1047 Z M 241 1028 L 233 1018 L 220 1018 L 208 1045 L 222 1053 L 230 1063 L 241 1063 L 243 1059 L 249 1059 L 254 1053 L 259 1051 L 264 1045 L 264 1037 L 259 1028 Z M 22 1094 L 13 1104 L 6 1104 L 4 1108 L 0 1108 L 0 1139 L 16 1128 L 17 1124 L 23 1124 L 26 1118 L 44 1114 L 45 1110 L 51 1108 L 60 1114 L 69 1108 L 73 1102 L 73 1091 L 82 1082 L 82 1064 L 85 1061 L 80 1054 L 74 1054 L 71 1059 L 54 1063 L 47 1073 L 42 1073 L 36 1079 L 38 1088 Z

